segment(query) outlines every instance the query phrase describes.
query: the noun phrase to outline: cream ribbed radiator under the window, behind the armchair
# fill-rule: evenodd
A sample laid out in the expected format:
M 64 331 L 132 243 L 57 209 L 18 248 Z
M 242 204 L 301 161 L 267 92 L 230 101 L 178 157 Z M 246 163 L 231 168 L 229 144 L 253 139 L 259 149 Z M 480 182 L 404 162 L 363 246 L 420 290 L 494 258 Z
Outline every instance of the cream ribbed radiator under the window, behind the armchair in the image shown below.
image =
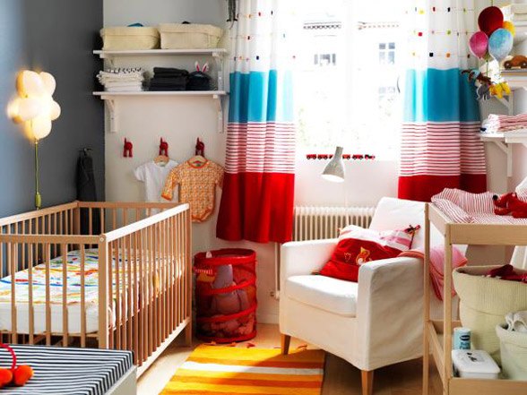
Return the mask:
M 339 236 L 339 229 L 347 225 L 367 228 L 374 211 L 374 207 L 296 206 L 293 240 L 334 238 Z

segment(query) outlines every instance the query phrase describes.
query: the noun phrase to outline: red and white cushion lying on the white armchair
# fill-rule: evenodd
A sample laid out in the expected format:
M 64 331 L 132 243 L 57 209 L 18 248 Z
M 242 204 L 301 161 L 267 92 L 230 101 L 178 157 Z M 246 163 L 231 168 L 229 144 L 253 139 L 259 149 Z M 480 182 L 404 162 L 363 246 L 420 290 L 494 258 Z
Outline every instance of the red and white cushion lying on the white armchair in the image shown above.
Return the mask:
M 410 250 L 413 235 L 419 229 L 385 230 L 382 232 L 351 225 L 341 230 L 339 244 L 320 274 L 334 279 L 357 282 L 359 267 L 370 261 L 394 258 Z

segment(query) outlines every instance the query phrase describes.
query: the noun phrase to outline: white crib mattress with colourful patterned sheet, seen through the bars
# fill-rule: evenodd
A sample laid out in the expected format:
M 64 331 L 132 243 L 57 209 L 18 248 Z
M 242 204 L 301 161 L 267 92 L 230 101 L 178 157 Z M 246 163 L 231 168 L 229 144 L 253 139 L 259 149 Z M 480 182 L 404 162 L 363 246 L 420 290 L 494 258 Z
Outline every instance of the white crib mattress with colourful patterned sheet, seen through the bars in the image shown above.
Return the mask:
M 119 258 L 122 262 L 122 259 Z M 125 287 L 123 263 L 119 264 L 119 283 Z M 99 329 L 99 251 L 86 249 L 84 255 L 85 313 L 86 332 Z M 115 259 L 113 265 L 114 292 L 116 289 Z M 73 250 L 67 254 L 67 315 L 69 333 L 81 332 L 81 253 Z M 51 331 L 63 331 L 63 274 L 62 256 L 49 262 L 49 283 L 51 301 Z M 33 278 L 33 316 L 35 333 L 46 331 L 46 264 L 41 263 L 32 269 Z M 18 333 L 29 333 L 29 272 L 20 270 L 15 274 L 16 326 Z M 12 276 L 0 279 L 0 331 L 11 331 L 11 288 Z M 114 295 L 115 305 L 115 295 Z M 115 311 L 115 308 L 114 308 Z M 113 314 L 112 314 L 113 315 Z M 115 320 L 115 316 L 112 316 Z

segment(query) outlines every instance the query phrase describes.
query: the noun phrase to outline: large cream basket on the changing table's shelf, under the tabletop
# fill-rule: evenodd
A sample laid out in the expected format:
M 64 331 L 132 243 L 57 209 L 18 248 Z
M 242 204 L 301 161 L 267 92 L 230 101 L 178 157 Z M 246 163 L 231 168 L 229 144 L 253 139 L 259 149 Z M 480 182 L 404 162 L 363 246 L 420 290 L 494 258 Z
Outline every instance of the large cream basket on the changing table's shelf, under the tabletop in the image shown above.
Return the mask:
M 496 326 L 506 313 L 527 310 L 527 284 L 483 277 L 497 267 L 458 268 L 454 270 L 454 287 L 460 297 L 462 326 L 471 329 L 472 348 L 487 351 L 499 363 Z

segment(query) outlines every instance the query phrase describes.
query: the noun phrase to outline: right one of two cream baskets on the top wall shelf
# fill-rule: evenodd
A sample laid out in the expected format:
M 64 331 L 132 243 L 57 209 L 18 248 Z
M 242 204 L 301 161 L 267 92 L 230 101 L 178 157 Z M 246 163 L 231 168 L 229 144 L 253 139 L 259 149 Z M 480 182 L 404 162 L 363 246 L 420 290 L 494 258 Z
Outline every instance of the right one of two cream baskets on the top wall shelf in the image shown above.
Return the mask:
M 162 49 L 207 49 L 218 47 L 223 30 L 212 25 L 161 23 Z

